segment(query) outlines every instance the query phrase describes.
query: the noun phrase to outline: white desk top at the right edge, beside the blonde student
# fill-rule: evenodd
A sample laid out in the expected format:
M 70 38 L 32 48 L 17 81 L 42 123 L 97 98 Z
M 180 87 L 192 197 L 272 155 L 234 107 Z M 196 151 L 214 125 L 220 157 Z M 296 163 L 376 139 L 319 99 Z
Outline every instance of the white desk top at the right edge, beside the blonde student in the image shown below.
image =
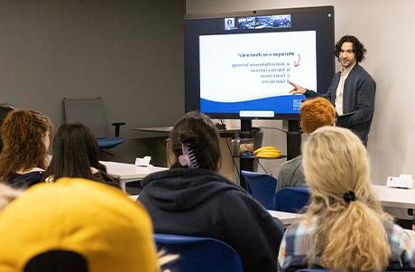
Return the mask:
M 415 189 L 400 189 L 372 185 L 378 200 L 385 207 L 415 209 Z

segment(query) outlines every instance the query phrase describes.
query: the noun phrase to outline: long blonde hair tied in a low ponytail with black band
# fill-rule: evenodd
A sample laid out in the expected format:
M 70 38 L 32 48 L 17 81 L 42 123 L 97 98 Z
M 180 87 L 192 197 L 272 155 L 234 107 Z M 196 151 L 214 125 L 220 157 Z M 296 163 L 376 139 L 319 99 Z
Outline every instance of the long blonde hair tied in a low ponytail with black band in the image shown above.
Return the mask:
M 314 249 L 320 265 L 339 271 L 381 271 L 390 248 L 380 203 L 370 188 L 369 160 L 360 139 L 341 127 L 320 127 L 303 149 L 303 166 L 311 193 L 307 221 L 318 220 Z M 355 201 L 346 202 L 353 192 Z

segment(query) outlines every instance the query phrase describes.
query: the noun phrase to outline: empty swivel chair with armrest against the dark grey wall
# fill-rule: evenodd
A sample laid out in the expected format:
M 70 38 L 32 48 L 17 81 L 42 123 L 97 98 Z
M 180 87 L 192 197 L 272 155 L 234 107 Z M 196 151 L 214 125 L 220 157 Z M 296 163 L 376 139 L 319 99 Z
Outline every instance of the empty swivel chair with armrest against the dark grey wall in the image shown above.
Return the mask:
M 106 135 L 108 124 L 101 98 L 64 98 L 63 108 L 66 123 L 82 123 L 89 127 L 97 137 L 99 148 L 108 155 L 112 155 L 106 149 L 121 145 L 124 141 L 120 137 L 120 127 L 124 122 L 112 123 L 115 127 L 115 136 Z

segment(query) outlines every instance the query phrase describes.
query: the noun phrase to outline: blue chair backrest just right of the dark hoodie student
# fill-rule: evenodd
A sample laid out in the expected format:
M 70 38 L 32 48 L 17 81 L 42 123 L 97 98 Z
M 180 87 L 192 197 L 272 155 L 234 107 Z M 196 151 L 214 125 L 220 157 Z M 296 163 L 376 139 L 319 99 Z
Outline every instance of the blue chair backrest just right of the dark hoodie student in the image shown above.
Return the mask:
M 241 177 L 244 179 L 246 191 L 249 192 L 255 200 L 263 204 L 263 207 L 267 210 L 272 210 L 277 179 L 270 174 L 244 170 L 241 171 Z

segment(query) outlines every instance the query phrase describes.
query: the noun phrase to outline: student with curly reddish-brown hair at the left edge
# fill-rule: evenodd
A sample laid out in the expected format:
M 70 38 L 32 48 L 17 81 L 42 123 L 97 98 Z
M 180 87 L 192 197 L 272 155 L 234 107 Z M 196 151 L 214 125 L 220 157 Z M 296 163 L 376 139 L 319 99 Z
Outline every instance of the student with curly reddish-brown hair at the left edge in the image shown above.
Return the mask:
M 1 130 L 0 180 L 14 188 L 40 183 L 53 131 L 49 117 L 35 110 L 14 110 Z

